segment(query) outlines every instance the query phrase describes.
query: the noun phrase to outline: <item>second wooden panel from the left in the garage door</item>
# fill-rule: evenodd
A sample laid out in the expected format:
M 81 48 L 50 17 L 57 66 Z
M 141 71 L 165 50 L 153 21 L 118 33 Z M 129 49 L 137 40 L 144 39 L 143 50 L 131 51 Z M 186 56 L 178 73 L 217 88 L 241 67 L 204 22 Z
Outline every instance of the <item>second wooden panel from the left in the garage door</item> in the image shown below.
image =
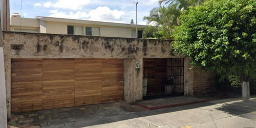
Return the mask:
M 74 59 L 44 59 L 43 108 L 74 106 Z

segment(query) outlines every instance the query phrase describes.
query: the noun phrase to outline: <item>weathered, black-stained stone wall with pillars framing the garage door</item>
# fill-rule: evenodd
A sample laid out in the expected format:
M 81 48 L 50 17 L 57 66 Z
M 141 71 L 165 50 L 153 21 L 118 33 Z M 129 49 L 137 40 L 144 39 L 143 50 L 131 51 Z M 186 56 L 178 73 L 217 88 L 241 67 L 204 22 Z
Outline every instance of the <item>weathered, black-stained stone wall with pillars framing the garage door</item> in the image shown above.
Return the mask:
M 123 58 L 124 100 L 131 104 L 142 100 L 143 70 L 142 67 L 135 69 L 136 62 L 142 65 L 143 58 L 180 58 L 172 52 L 170 40 L 17 32 L 4 32 L 3 39 L 9 117 L 11 58 Z M 191 73 L 186 68 L 186 78 L 190 78 L 188 75 Z M 190 79 L 186 79 L 185 88 L 188 83 L 191 83 Z

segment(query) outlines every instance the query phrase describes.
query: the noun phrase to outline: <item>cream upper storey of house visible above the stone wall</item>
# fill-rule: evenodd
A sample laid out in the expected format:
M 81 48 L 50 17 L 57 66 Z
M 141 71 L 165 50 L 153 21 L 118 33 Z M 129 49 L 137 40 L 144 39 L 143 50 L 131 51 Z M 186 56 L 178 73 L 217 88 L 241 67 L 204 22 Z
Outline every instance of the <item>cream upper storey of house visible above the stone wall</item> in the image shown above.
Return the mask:
M 138 38 L 142 38 L 142 32 L 145 28 L 147 28 L 146 25 L 138 25 Z M 11 17 L 11 31 L 135 38 L 136 24 L 45 16 L 23 18 L 15 13 Z

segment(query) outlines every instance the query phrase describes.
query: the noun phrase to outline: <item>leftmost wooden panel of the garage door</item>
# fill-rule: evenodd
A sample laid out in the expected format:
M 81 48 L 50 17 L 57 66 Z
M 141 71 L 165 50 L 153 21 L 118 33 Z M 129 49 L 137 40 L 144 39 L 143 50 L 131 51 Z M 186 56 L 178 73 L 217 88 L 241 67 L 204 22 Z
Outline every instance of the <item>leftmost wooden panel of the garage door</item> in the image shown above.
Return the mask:
M 42 59 L 11 60 L 11 111 L 42 109 Z

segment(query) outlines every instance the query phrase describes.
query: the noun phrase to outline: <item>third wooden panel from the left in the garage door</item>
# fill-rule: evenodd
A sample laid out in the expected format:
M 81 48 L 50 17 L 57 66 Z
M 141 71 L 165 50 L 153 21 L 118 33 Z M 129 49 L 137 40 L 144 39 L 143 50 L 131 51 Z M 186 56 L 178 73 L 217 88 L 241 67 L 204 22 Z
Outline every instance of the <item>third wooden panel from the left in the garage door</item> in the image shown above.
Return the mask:
M 101 103 L 101 59 L 75 59 L 75 105 Z

